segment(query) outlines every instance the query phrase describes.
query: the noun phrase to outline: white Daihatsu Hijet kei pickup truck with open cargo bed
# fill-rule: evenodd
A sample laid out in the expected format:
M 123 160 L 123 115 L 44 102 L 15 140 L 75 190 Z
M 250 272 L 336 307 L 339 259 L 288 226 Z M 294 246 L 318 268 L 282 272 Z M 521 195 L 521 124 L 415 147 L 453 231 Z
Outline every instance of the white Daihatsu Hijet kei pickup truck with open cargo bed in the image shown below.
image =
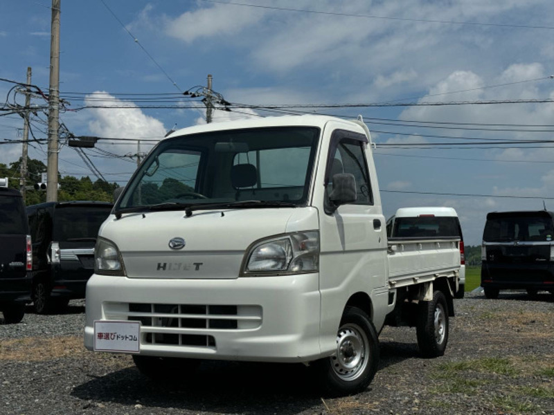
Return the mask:
M 460 240 L 386 236 L 363 120 L 189 127 L 150 151 L 100 227 L 84 344 L 157 380 L 201 360 L 299 362 L 363 391 L 384 324 L 442 356 Z

